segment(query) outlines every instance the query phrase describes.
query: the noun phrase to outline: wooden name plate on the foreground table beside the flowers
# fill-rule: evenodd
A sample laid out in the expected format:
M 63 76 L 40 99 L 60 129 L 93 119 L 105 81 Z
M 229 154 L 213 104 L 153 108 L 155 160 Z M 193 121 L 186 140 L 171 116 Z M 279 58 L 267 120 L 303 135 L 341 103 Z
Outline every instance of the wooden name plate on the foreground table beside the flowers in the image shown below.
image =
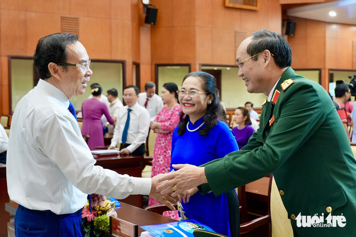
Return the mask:
M 138 225 L 110 217 L 110 234 L 115 237 L 138 237 Z

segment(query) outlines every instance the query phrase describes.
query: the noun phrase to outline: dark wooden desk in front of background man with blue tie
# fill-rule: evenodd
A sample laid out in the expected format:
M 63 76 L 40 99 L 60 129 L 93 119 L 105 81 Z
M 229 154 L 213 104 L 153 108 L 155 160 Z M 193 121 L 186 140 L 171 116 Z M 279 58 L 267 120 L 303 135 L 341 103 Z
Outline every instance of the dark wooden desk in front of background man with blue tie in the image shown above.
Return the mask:
M 102 158 L 97 158 L 96 155 L 93 156 L 97 160 L 96 165 L 100 165 L 105 169 L 114 170 L 119 174 L 128 174 L 129 176 L 133 177 L 141 177 L 142 170 L 146 165 L 146 161 L 149 160 L 145 159 L 143 156 L 134 155 L 121 155 Z M 142 208 L 142 195 L 130 195 L 129 197 L 120 200 L 120 202 L 121 201 Z

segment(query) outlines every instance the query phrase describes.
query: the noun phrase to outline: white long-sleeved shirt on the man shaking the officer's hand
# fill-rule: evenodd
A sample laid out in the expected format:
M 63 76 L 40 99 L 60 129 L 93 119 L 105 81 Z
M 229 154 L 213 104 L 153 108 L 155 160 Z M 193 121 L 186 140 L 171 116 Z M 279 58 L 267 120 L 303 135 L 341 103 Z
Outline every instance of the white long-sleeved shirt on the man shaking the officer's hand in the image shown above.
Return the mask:
M 148 194 L 150 179 L 94 165 L 68 107 L 67 96 L 42 79 L 16 106 L 6 164 L 10 199 L 29 209 L 68 214 L 87 203 L 87 194 L 117 199 Z

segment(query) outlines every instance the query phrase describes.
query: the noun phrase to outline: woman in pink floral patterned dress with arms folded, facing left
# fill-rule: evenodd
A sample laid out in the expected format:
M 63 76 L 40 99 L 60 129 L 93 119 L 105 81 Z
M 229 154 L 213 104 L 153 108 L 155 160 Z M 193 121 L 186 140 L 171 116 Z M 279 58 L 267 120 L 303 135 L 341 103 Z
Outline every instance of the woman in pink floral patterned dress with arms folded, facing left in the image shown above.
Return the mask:
M 177 102 L 178 86 L 175 83 L 165 83 L 162 87 L 161 97 L 165 106 L 159 111 L 150 128 L 158 133 L 153 152 L 152 177 L 158 174 L 168 173 L 171 166 L 172 133 L 179 123 L 179 115 L 182 111 Z M 160 204 L 150 198 L 148 205 Z M 178 219 L 177 211 L 163 213 L 164 216 Z

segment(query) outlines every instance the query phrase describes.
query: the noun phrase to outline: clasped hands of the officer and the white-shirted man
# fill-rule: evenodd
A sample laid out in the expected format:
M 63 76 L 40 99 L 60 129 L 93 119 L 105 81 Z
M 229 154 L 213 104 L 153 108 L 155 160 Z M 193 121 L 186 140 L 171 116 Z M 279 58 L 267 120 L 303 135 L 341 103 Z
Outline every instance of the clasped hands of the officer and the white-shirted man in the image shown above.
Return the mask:
M 204 167 L 191 164 L 173 164 L 178 169 L 168 174 L 159 174 L 152 178 L 149 196 L 172 211 L 176 210 L 172 203 L 188 202 L 190 196 L 198 192 L 198 186 L 207 183 Z

